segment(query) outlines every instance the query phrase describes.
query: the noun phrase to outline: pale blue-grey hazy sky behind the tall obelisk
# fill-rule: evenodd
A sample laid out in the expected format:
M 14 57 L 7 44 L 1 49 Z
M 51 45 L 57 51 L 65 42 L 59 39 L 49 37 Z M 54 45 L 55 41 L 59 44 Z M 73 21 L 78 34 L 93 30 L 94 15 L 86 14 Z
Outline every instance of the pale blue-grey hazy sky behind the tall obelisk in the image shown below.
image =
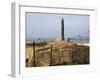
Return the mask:
M 89 36 L 89 16 L 26 12 L 26 40 L 35 38 L 60 38 L 61 19 L 64 19 L 65 38 Z

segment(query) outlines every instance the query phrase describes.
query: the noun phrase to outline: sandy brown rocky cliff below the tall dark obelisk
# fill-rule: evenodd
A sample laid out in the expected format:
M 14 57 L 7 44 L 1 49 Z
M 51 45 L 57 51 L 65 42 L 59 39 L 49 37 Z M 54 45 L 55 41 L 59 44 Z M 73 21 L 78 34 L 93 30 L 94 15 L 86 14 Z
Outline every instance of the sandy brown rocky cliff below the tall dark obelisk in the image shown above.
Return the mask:
M 52 45 L 52 47 L 51 47 Z M 27 45 L 26 45 L 27 46 Z M 77 45 L 71 42 L 55 41 L 45 46 L 36 46 L 36 66 L 57 66 L 89 64 L 89 46 Z M 26 47 L 27 67 L 33 67 L 33 48 Z

